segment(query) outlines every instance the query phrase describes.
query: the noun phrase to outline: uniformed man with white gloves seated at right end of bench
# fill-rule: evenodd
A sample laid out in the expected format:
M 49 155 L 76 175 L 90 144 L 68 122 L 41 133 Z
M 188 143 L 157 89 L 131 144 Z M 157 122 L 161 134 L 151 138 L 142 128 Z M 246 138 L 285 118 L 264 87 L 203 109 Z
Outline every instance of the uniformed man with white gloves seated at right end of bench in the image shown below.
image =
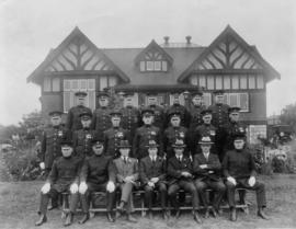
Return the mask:
M 224 175 L 227 179 L 226 187 L 230 207 L 230 220 L 237 220 L 235 203 L 236 187 L 255 191 L 258 216 L 269 219 L 263 210 L 266 206 L 265 186 L 255 180 L 255 163 L 251 152 L 244 148 L 244 134 L 241 133 L 238 133 L 234 137 L 235 149 L 227 151 L 223 161 Z

